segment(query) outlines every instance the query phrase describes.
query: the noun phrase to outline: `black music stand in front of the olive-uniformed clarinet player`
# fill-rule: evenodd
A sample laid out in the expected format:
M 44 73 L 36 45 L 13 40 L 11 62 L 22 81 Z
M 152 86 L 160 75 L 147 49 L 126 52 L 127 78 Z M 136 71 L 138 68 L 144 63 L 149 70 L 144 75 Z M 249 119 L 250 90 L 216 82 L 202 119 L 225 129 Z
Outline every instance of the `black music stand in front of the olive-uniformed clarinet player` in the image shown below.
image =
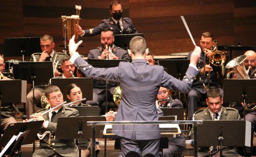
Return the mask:
M 251 122 L 245 120 L 206 120 L 197 126 L 197 146 L 251 146 Z M 235 137 L 235 140 L 234 140 Z

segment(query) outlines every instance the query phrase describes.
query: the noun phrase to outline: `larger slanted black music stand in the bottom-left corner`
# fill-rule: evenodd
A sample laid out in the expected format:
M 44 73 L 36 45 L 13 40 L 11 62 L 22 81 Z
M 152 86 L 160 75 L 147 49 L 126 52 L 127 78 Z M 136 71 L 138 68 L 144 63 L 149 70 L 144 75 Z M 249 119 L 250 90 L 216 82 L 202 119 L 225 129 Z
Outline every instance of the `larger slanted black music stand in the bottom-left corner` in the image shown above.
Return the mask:
M 34 140 L 37 138 L 37 133 L 39 132 L 41 126 L 43 124 L 43 121 L 33 121 L 33 122 L 21 122 L 21 123 L 11 123 L 5 130 L 4 135 L 0 139 L 0 147 L 5 146 L 11 137 L 13 135 L 18 135 L 20 132 L 26 132 L 29 133 L 29 136 L 23 136 L 23 139 L 20 139 L 19 141 L 14 144 L 14 149 L 9 149 L 10 153 L 12 153 L 12 150 L 20 150 L 21 144 L 31 144 L 34 142 Z M 34 151 L 34 148 L 33 148 Z

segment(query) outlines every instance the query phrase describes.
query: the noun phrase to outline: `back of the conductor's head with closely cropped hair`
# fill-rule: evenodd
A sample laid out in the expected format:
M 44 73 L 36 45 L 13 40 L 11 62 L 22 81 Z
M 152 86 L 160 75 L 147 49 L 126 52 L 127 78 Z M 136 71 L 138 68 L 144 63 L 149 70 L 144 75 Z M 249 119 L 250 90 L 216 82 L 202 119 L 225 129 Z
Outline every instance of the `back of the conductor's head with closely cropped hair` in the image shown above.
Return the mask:
M 146 51 L 146 41 L 141 36 L 135 36 L 130 40 L 130 51 L 135 54 L 144 55 Z

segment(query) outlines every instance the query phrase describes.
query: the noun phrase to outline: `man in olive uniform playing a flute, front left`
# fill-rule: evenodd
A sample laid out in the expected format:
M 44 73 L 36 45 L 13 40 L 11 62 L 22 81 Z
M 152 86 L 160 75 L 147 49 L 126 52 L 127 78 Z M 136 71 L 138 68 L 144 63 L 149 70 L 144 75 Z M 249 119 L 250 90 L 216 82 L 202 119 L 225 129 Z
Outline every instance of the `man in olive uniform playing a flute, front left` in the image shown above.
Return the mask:
M 46 134 L 40 139 L 39 148 L 33 153 L 33 157 L 78 157 L 78 147 L 73 139 L 55 139 L 57 121 L 59 117 L 76 117 L 79 113 L 74 108 L 62 107 L 56 108 L 49 113 L 42 115 L 63 102 L 63 94 L 59 87 L 51 85 L 45 90 L 46 100 L 50 103 L 49 108 L 43 108 L 37 114 L 31 115 L 32 119 L 39 121 L 43 120 L 43 125 L 39 130 L 39 134 Z M 26 119 L 27 120 L 27 119 Z M 47 134 L 46 131 L 50 131 Z M 50 137 L 49 137 L 50 136 Z M 49 140 L 50 139 L 50 140 Z

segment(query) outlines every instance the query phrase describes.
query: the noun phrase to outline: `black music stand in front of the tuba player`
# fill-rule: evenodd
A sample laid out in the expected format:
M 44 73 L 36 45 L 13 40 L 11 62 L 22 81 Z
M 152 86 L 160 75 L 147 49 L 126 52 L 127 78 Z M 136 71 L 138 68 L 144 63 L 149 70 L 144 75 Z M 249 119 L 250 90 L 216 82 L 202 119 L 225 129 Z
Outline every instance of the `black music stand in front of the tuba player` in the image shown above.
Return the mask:
M 224 102 L 256 102 L 255 97 L 256 80 L 246 79 L 224 79 L 223 91 Z M 232 93 L 232 94 L 231 94 Z M 244 105 L 245 115 L 245 105 Z M 245 116 L 244 116 L 245 119 Z

